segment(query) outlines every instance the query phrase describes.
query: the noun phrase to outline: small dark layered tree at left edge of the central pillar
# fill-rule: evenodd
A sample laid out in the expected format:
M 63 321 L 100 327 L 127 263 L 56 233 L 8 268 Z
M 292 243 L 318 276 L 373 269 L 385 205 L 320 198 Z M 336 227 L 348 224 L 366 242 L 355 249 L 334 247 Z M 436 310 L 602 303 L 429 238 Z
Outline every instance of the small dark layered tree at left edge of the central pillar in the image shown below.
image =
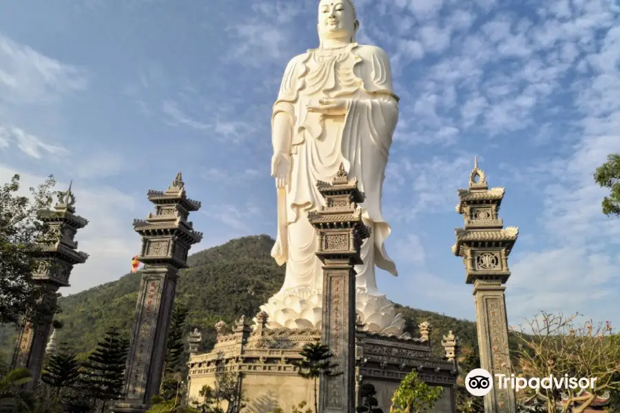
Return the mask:
M 333 354 L 329 352 L 329 347 L 321 343 L 307 343 L 301 350 L 301 360 L 295 360 L 291 364 L 299 368 L 298 374 L 304 379 L 314 381 L 314 412 L 318 413 L 318 379 L 320 377 L 338 376 L 342 372 L 333 372 L 338 367 L 337 363 L 332 363 Z

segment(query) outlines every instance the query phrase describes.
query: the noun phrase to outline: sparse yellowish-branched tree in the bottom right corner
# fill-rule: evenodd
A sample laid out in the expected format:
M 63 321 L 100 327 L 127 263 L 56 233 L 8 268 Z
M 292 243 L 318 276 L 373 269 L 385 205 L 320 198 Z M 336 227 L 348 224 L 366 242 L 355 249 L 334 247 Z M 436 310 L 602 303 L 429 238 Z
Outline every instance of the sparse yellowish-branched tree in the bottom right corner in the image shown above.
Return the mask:
M 523 326 L 519 346 L 519 364 L 524 377 L 585 377 L 597 378 L 588 389 L 589 396 L 579 396 L 577 388 L 562 389 L 567 392 L 568 403 L 564 412 L 582 413 L 596 396 L 620 390 L 620 335 L 612 334 L 609 321 L 599 323 L 592 320 L 583 326 L 575 326 L 578 314 L 570 317 L 541 311 L 539 317 L 528 320 L 526 335 Z M 555 388 L 538 390 L 546 400 L 547 411 L 555 413 L 561 402 L 561 394 Z

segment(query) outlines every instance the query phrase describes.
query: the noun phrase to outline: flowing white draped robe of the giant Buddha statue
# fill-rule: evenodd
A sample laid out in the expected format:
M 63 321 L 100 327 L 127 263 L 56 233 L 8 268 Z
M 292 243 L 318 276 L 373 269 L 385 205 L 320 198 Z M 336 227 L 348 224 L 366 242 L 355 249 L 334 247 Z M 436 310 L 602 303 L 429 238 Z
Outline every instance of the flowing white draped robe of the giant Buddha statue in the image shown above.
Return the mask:
M 309 112 L 320 98 L 347 99 L 345 116 Z M 381 211 L 382 185 L 398 119 L 391 67 L 379 47 L 351 43 L 338 50 L 309 50 L 291 59 L 282 78 L 273 118 L 291 116 L 291 173 L 286 191 L 278 193 L 278 237 L 271 255 L 286 262 L 284 285 L 276 296 L 308 297 L 322 290 L 322 264 L 317 237 L 307 213 L 324 205 L 316 182 L 331 182 L 340 163 L 358 178 L 365 200 L 360 204 L 371 237 L 362 245 L 363 264 L 355 266 L 358 294 L 380 295 L 375 265 L 393 275 L 396 266 L 384 242 L 390 226 Z M 286 220 L 282 222 L 282 220 Z M 287 233 L 282 237 L 280 229 Z M 284 231 L 284 230 L 283 230 Z

